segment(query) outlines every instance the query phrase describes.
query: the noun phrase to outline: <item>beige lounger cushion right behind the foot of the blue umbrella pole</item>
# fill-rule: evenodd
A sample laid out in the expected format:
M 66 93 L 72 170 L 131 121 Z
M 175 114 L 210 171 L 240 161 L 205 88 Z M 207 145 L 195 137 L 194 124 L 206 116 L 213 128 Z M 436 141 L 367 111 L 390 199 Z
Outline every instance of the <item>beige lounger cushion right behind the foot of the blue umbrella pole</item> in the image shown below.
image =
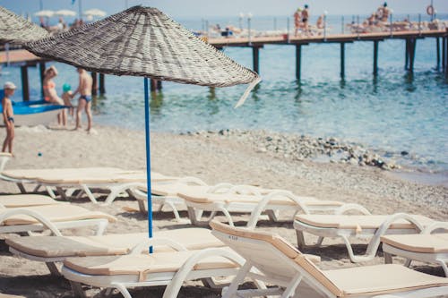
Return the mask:
M 181 243 L 187 250 L 200 250 L 208 247 L 220 247 L 220 242 L 211 231 L 204 228 L 184 228 L 157 231 L 154 237 L 168 238 Z M 17 251 L 40 258 L 61 258 L 76 256 L 120 255 L 148 238 L 146 233 L 108 234 L 100 236 L 40 236 L 14 237 L 6 239 L 6 244 Z M 167 245 L 157 245 L 156 252 L 173 251 Z

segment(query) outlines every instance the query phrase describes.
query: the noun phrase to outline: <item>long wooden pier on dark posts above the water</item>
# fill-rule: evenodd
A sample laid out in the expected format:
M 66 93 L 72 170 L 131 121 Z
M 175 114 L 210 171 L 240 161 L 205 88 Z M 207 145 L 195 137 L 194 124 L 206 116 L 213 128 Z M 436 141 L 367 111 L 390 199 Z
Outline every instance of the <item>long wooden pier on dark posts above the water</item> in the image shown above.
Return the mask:
M 253 56 L 254 72 L 260 73 L 260 49 L 264 45 L 284 45 L 296 47 L 296 78 L 297 81 L 301 79 L 301 64 L 303 47 L 309 44 L 325 44 L 325 43 L 339 43 L 340 44 L 340 78 L 345 77 L 345 45 L 353 42 L 372 42 L 373 43 L 373 74 L 378 75 L 378 49 L 380 42 L 385 39 L 404 39 L 404 68 L 408 72 L 414 71 L 414 62 L 416 56 L 416 46 L 418 39 L 421 38 L 435 38 L 436 61 L 435 68 L 442 71 L 448 79 L 448 29 L 447 30 L 425 30 L 425 31 L 392 31 L 392 32 L 378 32 L 378 33 L 358 33 L 358 34 L 334 34 L 325 36 L 312 37 L 294 37 L 289 35 L 282 35 L 279 37 L 256 37 L 256 38 L 211 38 L 208 42 L 218 49 L 223 47 L 251 47 Z M 441 45 L 442 42 L 442 51 Z M 441 53 L 442 52 L 442 53 Z M 442 57 L 441 57 L 442 56 Z M 6 52 L 0 52 L 0 63 L 18 65 L 21 67 L 22 77 L 22 93 L 23 100 L 30 99 L 30 88 L 28 78 L 28 67 L 36 67 L 39 65 L 40 82 L 42 86 L 43 72 L 48 61 L 32 55 L 30 52 L 18 49 Z M 99 78 L 98 78 L 99 75 Z M 99 94 L 106 93 L 105 76 L 103 73 L 97 74 L 92 72 L 93 88 L 92 94 L 96 95 L 97 90 Z M 161 81 L 151 80 L 151 91 L 161 89 Z M 43 88 L 41 88 L 43 95 Z

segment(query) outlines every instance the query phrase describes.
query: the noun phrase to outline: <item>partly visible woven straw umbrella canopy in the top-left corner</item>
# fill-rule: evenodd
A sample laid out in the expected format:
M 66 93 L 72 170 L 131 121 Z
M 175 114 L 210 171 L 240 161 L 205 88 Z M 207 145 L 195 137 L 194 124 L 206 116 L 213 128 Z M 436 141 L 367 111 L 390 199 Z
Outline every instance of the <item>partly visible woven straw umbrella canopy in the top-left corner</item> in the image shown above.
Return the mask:
M 0 43 L 24 43 L 47 35 L 47 30 L 0 6 Z

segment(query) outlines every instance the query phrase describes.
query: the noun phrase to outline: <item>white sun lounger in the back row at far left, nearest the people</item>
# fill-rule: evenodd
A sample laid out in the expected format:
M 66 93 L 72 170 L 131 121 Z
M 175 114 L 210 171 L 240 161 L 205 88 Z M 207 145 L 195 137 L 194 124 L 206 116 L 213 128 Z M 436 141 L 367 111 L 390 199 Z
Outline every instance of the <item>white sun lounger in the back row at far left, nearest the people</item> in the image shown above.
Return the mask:
M 52 188 L 56 188 L 64 199 L 67 199 L 67 196 L 70 196 L 74 190 L 82 190 L 94 203 L 98 203 L 98 201 L 91 189 L 108 190 L 107 201 L 110 203 L 120 193 L 144 185 L 146 183 L 146 172 L 127 171 L 116 167 L 16 169 L 2 172 L 0 178 L 17 183 L 21 192 L 26 192 L 23 186 L 24 183 L 37 185 L 34 192 L 38 191 L 39 187 L 45 186 L 48 194 L 53 198 L 55 194 Z M 177 178 L 159 173 L 151 174 L 152 181 L 169 181 L 173 179 Z

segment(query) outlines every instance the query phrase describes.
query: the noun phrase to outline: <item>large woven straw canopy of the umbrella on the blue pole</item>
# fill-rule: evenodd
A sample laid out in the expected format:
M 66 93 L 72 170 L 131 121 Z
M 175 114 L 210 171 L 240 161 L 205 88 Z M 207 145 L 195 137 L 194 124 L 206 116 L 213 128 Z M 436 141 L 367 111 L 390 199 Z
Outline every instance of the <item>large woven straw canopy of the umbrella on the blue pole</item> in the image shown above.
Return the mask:
M 259 79 L 156 8 L 122 13 L 25 46 L 41 57 L 92 72 L 226 87 Z

